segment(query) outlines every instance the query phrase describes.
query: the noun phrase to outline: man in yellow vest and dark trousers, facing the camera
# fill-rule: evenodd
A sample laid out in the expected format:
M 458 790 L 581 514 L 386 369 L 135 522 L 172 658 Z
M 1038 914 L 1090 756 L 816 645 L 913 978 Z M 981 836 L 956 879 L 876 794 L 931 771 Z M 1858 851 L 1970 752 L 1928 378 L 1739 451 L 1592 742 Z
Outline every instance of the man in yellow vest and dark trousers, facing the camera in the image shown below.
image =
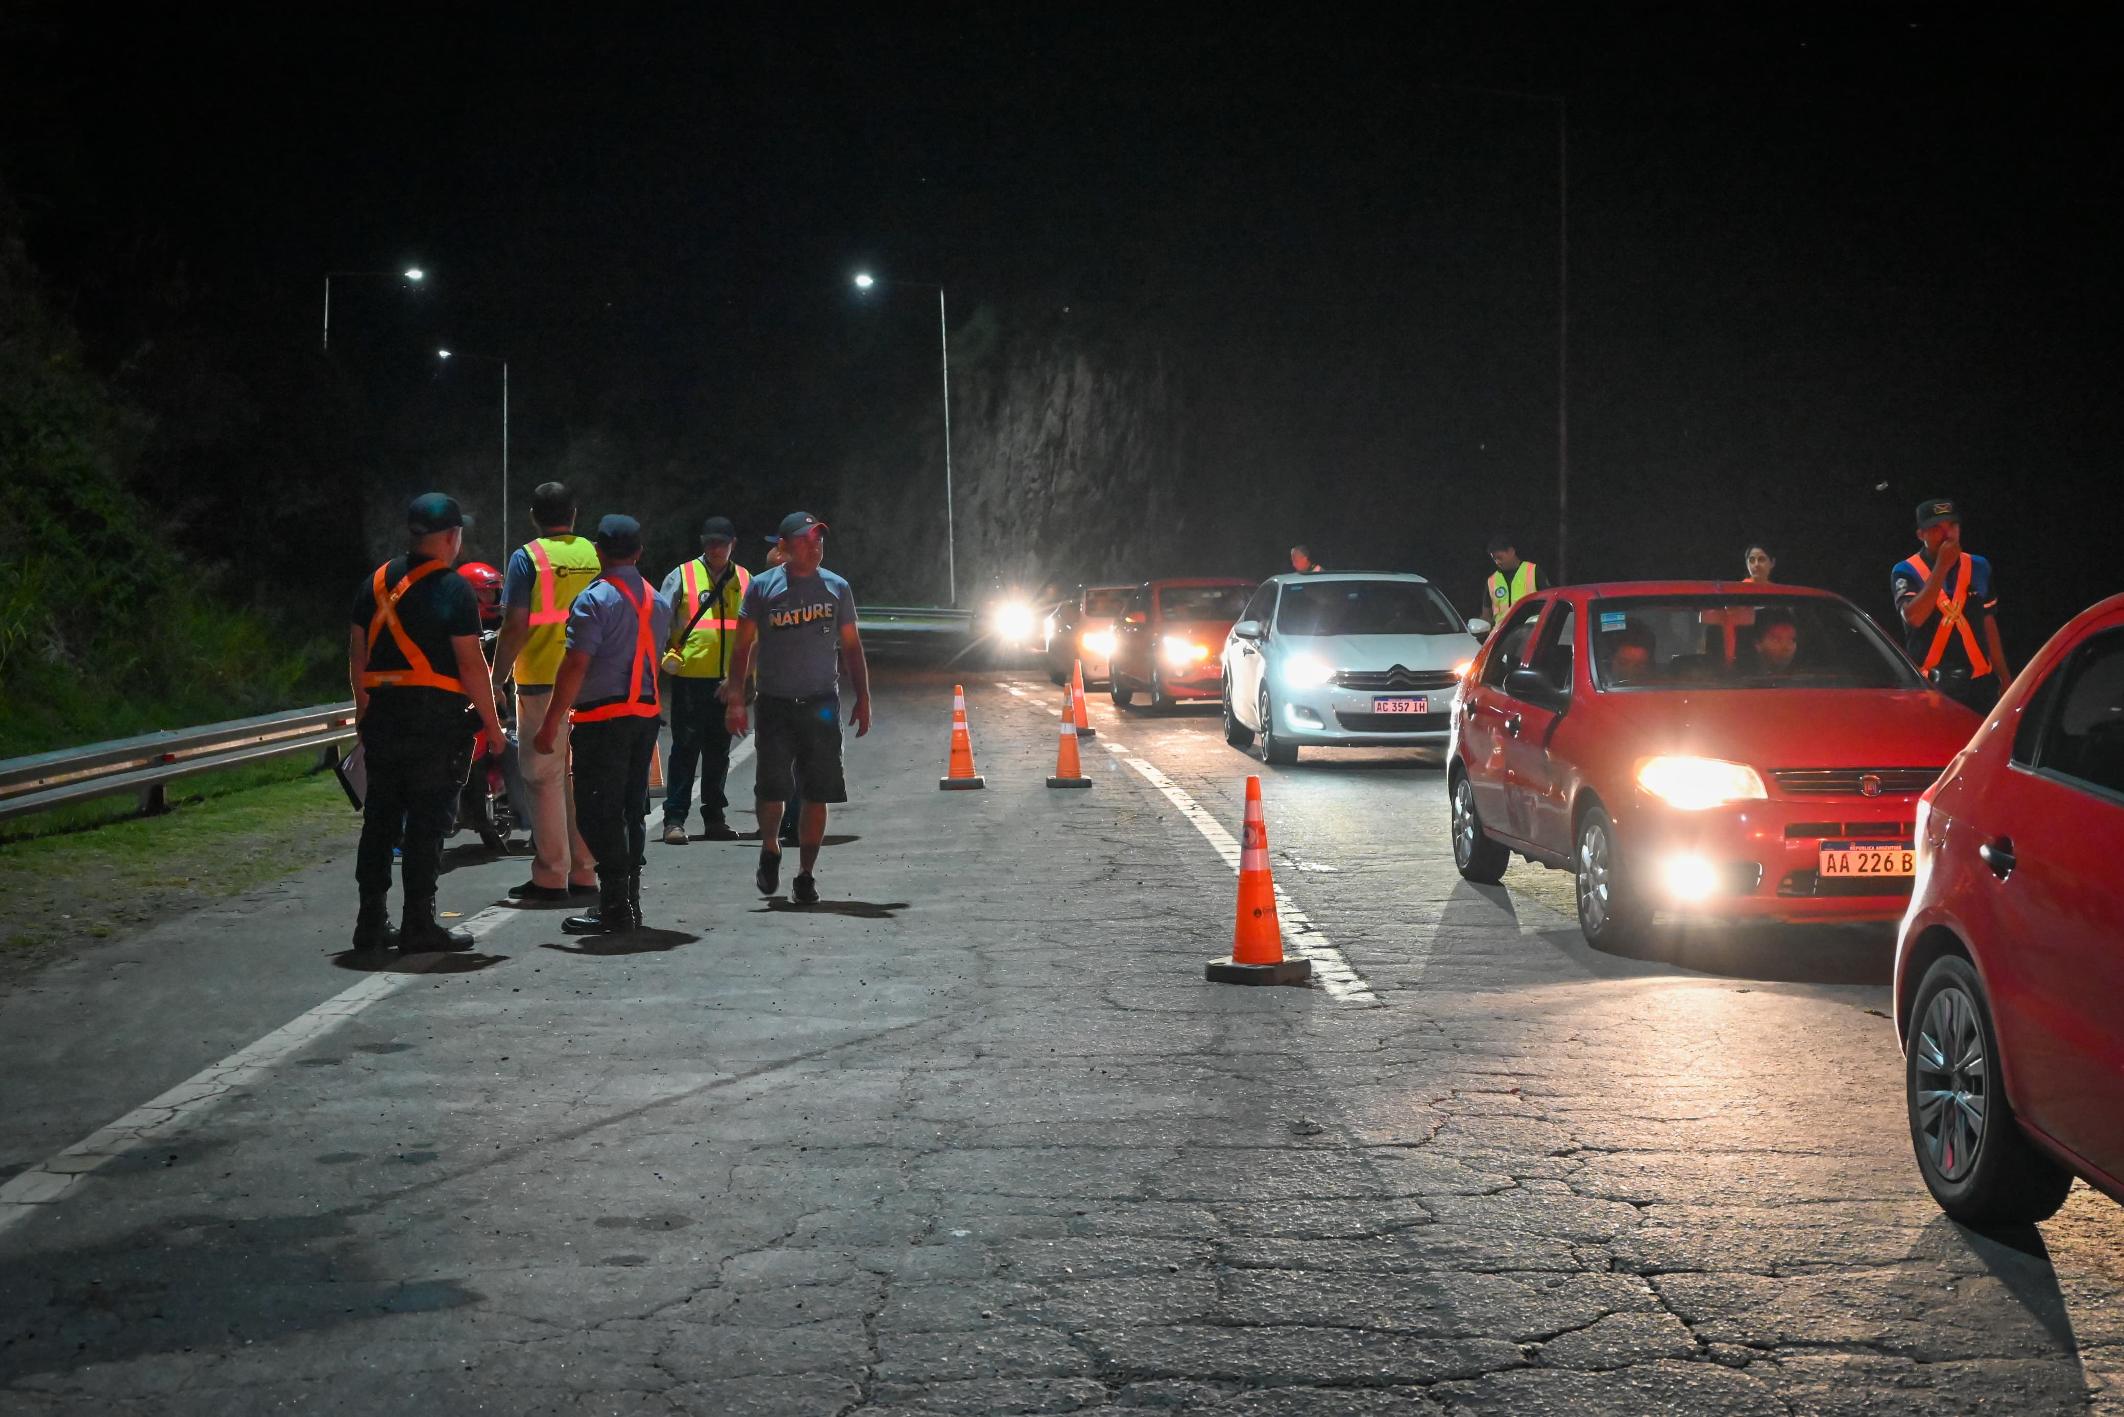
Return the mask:
M 752 575 L 731 560 L 737 528 L 729 518 L 701 524 L 701 554 L 665 577 L 661 594 L 671 602 L 671 643 L 665 670 L 671 675 L 671 772 L 665 774 L 665 829 L 673 846 L 686 844 L 686 812 L 692 810 L 692 772 L 701 770 L 701 836 L 712 842 L 737 840 L 722 819 L 729 808 L 724 781 L 731 776 L 731 730 L 722 721 L 718 692 L 731 672 L 737 641 L 737 607 Z

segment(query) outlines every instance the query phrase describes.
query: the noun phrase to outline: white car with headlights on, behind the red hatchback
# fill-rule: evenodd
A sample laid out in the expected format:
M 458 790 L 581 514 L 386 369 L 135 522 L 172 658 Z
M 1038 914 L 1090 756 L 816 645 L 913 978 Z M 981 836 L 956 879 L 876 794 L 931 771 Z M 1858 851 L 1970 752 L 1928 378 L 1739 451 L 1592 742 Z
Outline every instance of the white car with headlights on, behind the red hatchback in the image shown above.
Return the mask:
M 1302 747 L 1444 747 L 1489 622 L 1421 575 L 1279 575 L 1223 643 L 1223 740 L 1272 764 Z

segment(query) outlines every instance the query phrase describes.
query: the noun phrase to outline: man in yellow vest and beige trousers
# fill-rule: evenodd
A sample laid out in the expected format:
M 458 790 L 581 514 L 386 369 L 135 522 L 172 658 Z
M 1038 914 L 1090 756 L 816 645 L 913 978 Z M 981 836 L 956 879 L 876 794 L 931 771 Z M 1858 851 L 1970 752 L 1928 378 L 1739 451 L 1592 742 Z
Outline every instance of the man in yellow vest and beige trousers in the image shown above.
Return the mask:
M 576 494 L 567 484 L 542 482 L 531 492 L 531 524 L 537 539 L 510 556 L 501 585 L 501 643 L 495 645 L 495 683 L 516 677 L 516 732 L 523 742 L 537 736 L 550 717 L 552 681 L 567 649 L 567 611 L 597 579 L 597 549 L 576 535 Z M 531 880 L 512 887 L 510 899 L 565 902 L 597 891 L 597 859 L 576 829 L 576 806 L 567 789 L 567 715 L 554 753 L 520 757 L 531 844 L 537 857 Z

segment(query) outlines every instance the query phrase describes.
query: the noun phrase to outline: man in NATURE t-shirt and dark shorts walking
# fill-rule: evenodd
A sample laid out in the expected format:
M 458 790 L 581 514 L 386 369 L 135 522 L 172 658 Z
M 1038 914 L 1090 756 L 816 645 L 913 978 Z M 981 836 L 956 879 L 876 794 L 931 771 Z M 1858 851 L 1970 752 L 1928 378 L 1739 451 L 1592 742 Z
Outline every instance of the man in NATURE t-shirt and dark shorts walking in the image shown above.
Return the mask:
M 847 802 L 841 779 L 841 664 L 854 681 L 856 736 L 871 732 L 871 670 L 856 634 L 856 596 L 847 581 L 826 571 L 826 524 L 809 511 L 782 518 L 782 564 L 752 577 L 737 611 L 737 658 L 722 681 L 733 734 L 746 732 L 746 677 L 754 655 L 760 668 L 758 781 L 760 895 L 780 885 L 782 802 L 803 779 L 803 819 L 796 823 L 799 872 L 790 899 L 818 902 L 818 849 L 826 840 L 826 804 Z

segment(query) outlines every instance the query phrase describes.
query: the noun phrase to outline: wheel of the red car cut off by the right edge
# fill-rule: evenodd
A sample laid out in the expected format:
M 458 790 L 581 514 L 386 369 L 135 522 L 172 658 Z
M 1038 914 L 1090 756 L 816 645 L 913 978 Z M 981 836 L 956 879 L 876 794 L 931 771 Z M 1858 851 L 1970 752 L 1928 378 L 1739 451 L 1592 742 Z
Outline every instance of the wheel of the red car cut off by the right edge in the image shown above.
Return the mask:
M 1958 955 L 1933 961 L 1909 1018 L 1903 1092 L 1918 1173 L 1933 1201 L 1967 1226 L 2056 1215 L 2073 1173 L 2014 1122 L 1975 965 Z

